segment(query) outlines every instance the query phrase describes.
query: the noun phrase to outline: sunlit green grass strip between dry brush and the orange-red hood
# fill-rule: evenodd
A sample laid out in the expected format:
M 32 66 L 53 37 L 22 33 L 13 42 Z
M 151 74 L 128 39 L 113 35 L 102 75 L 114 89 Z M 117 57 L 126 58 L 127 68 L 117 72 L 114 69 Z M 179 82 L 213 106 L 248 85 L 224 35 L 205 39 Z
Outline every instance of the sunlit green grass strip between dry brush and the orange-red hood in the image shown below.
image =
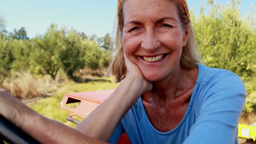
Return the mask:
M 70 112 L 62 110 L 60 106 L 60 101 L 65 94 L 84 91 L 97 91 L 101 89 L 113 89 L 117 86 L 118 83 L 114 83 L 111 78 L 90 80 L 88 83 L 69 82 L 51 97 L 27 103 L 27 106 L 31 107 L 31 109 L 45 117 L 62 122 L 69 127 L 75 127 L 75 124 L 66 120 L 66 116 L 68 116 Z

